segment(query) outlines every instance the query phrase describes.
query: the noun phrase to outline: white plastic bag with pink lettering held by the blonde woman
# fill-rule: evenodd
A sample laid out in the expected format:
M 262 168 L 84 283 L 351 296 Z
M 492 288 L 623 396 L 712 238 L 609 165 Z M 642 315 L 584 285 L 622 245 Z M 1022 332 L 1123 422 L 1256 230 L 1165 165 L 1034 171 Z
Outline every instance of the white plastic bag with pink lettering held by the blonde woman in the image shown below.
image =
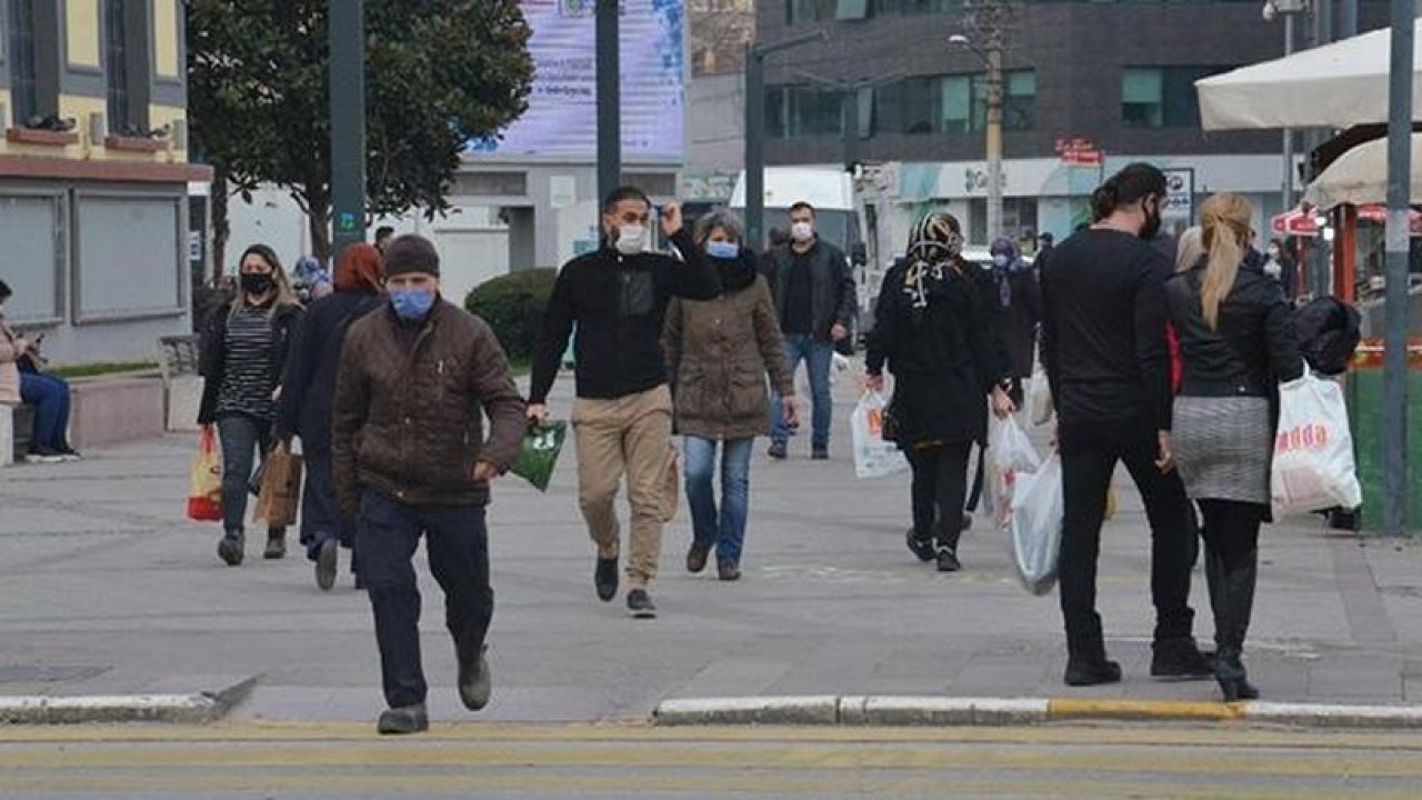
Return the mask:
M 1276 520 L 1362 505 L 1342 387 L 1307 370 L 1278 387 L 1278 434 L 1268 478 Z

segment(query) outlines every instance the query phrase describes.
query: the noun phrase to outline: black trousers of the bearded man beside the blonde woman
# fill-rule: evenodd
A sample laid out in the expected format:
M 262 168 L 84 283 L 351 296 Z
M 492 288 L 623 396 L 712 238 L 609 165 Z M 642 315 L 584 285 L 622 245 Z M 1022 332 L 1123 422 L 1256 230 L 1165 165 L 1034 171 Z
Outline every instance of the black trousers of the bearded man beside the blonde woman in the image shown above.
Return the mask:
M 1156 609 L 1155 641 L 1190 636 L 1190 569 L 1199 551 L 1185 484 L 1175 471 L 1155 465 L 1156 431 L 1149 423 L 1062 424 L 1062 548 L 1061 608 L 1066 645 L 1074 655 L 1102 653 L 1101 615 L 1096 614 L 1096 559 L 1106 493 L 1116 463 L 1123 461 L 1150 522 L 1150 599 Z

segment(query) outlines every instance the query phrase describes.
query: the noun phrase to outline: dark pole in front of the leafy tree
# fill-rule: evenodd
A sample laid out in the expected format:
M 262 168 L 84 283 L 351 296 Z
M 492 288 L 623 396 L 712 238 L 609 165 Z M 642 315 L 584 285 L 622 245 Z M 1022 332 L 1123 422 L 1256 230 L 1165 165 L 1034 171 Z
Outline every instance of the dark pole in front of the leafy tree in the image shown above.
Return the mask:
M 364 0 L 331 3 L 331 263 L 365 241 Z

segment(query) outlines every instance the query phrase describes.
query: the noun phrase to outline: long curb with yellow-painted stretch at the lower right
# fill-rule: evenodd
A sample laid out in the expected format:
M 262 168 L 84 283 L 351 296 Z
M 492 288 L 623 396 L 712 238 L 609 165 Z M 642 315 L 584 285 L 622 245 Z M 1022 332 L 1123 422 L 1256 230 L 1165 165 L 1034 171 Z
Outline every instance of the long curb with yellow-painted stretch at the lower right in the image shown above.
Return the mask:
M 1049 722 L 1213 722 L 1295 727 L 1422 729 L 1422 706 L 1214 703 L 1012 698 L 698 698 L 663 700 L 653 723 L 823 726 L 1014 726 Z

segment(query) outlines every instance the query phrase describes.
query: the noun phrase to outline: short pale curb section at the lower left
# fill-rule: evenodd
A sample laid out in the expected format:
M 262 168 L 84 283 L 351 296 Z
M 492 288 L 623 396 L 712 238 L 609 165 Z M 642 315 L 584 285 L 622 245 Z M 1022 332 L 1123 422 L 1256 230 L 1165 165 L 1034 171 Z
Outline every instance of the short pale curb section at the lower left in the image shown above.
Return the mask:
M 260 679 L 260 675 L 253 675 L 216 692 L 195 695 L 0 696 L 0 725 L 206 725 L 226 716 Z

